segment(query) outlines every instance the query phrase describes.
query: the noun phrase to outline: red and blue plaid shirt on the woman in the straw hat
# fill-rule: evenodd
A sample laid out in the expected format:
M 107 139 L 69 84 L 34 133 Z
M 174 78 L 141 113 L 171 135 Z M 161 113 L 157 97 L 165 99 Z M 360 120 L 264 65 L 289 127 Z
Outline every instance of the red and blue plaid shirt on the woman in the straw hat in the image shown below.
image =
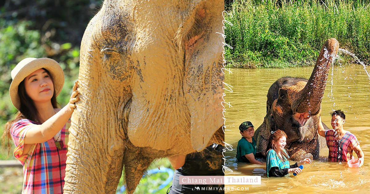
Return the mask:
M 16 145 L 14 157 L 23 165 L 22 194 L 63 194 L 70 123 L 71 120 L 68 120 L 61 129 L 61 149 L 57 148 L 53 137 L 46 142 L 32 144 L 30 151 L 24 155 L 26 132 L 41 123 L 20 119 L 13 124 L 10 134 Z

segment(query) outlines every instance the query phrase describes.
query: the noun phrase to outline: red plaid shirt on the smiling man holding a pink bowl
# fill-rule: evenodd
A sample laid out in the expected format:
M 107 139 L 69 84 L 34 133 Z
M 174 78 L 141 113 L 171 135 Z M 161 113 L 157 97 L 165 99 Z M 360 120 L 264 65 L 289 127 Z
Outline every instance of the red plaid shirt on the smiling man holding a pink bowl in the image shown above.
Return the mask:
M 329 148 L 329 161 L 346 162 L 351 159 L 353 148 L 360 143 L 357 137 L 347 131 L 340 140 L 335 139 L 335 130 L 325 130 L 326 145 Z

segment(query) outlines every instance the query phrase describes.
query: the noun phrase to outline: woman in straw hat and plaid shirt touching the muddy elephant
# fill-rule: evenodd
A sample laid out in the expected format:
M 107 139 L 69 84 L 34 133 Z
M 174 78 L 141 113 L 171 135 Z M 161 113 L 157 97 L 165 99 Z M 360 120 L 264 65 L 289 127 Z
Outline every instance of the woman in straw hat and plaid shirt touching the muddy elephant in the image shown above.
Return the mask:
M 78 101 L 76 81 L 69 103 L 57 108 L 64 84 L 60 65 L 49 58 L 23 59 L 11 71 L 9 93 L 19 110 L 4 127 L 4 139 L 13 139 L 14 157 L 23 165 L 23 194 L 63 193 L 70 117 Z

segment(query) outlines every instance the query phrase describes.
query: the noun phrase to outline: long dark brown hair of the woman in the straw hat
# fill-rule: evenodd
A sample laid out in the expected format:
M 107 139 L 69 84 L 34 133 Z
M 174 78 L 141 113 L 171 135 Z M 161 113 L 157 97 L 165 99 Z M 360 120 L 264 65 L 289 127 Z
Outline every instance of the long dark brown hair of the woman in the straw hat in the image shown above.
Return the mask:
M 50 76 L 51 81 L 53 82 L 53 77 L 51 77 L 49 71 L 47 69 L 43 68 L 47 74 Z M 25 78 L 26 79 L 26 78 Z M 8 150 L 8 156 L 9 156 L 9 151 L 10 151 L 10 141 L 11 141 L 11 135 L 10 135 L 10 128 L 11 126 L 17 122 L 20 119 L 28 119 L 32 120 L 34 122 L 40 122 L 40 113 L 37 111 L 35 103 L 33 100 L 27 95 L 26 88 L 24 86 L 24 80 L 20 82 L 18 86 L 18 95 L 19 95 L 19 100 L 21 103 L 20 109 L 17 112 L 16 118 L 13 120 L 10 120 L 7 122 L 4 126 L 4 132 L 3 132 L 3 142 L 5 145 L 5 148 Z M 55 88 L 54 88 L 54 94 L 53 97 L 51 97 L 51 105 L 53 105 L 53 108 L 58 108 L 59 104 L 57 103 L 57 98 L 55 97 Z

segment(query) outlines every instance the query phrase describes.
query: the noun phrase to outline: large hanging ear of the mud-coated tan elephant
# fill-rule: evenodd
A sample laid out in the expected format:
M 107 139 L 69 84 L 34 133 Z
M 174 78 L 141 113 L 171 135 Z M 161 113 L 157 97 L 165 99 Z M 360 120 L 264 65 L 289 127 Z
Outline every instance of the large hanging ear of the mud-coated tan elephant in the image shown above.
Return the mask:
M 203 0 L 195 0 L 194 5 L 189 19 L 179 28 L 182 32 L 190 27 L 180 33 L 180 37 L 189 37 L 177 39 L 184 40 L 180 41 L 185 48 L 183 89 L 190 113 L 191 145 L 199 152 L 223 126 L 223 38 L 216 32 L 222 30 L 220 13 L 225 5 L 223 1 Z

